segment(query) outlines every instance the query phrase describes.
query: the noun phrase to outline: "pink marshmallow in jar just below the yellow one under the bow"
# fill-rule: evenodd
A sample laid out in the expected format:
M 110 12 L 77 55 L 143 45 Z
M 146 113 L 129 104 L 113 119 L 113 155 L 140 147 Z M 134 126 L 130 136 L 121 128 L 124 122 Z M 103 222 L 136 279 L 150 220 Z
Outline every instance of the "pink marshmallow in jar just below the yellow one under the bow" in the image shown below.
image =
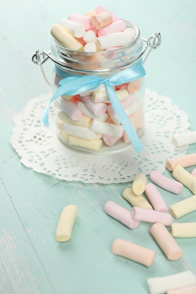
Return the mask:
M 100 116 L 105 113 L 107 104 L 103 102 L 93 102 L 91 97 L 92 96 L 80 96 L 80 99 L 94 115 Z

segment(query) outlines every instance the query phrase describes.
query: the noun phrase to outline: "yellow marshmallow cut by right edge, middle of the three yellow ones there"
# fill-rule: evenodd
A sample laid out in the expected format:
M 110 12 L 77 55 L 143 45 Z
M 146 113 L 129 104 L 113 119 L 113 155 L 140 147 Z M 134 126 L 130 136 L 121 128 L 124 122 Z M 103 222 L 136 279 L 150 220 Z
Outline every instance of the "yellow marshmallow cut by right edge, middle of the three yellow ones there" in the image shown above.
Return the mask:
M 170 206 L 170 213 L 174 218 L 180 218 L 196 210 L 196 195 Z

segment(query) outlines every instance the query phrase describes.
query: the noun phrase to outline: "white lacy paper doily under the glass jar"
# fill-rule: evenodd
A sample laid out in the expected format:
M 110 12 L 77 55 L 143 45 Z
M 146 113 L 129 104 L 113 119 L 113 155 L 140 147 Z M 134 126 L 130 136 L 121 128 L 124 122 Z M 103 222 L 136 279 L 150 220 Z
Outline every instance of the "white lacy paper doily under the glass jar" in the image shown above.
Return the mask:
M 138 155 L 130 147 L 120 153 L 99 156 L 75 152 L 59 141 L 53 108 L 49 115 L 51 128 L 40 124 L 50 98 L 51 93 L 32 98 L 23 113 L 14 117 L 16 127 L 11 144 L 21 163 L 38 173 L 67 181 L 123 183 L 133 180 L 137 173 L 148 175 L 155 169 L 163 173 L 169 158 L 186 154 L 188 146 L 175 147 L 172 135 L 186 132 L 188 116 L 169 97 L 146 90 L 145 132 L 140 139 L 142 153 Z

